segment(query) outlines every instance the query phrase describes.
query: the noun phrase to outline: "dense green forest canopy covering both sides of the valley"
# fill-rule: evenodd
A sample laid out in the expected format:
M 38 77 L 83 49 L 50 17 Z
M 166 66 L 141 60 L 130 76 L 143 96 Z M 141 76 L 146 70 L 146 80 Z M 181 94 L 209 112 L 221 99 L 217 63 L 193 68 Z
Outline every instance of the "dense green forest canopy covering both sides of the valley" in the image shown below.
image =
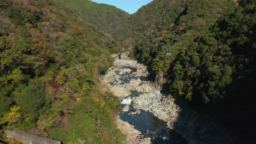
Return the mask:
M 112 122 L 119 100 L 99 77 L 125 48 L 169 97 L 247 132 L 256 114 L 255 4 L 156 0 L 129 15 L 91 1 L 0 0 L 0 125 L 123 143 Z

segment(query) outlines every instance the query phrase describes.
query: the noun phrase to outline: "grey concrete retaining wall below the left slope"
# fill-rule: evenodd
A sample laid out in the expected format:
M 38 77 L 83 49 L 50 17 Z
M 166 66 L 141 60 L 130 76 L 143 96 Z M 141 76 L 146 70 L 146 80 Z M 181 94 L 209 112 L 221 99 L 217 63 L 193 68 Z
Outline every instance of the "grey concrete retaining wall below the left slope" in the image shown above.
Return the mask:
M 20 131 L 20 130 L 8 130 L 4 129 L 4 133 L 12 137 L 16 140 L 21 141 L 22 143 L 27 144 L 61 144 L 61 141 L 56 141 L 53 139 L 49 139 L 47 137 L 34 135 L 31 133 L 27 133 L 26 131 Z

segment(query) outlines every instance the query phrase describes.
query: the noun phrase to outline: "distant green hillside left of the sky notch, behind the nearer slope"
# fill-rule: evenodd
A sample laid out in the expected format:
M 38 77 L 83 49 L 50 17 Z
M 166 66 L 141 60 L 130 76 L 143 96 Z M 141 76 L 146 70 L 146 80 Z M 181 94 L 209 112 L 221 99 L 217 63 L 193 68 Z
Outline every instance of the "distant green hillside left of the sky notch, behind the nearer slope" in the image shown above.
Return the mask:
M 59 2 L 108 34 L 115 32 L 129 17 L 128 13 L 112 5 L 97 4 L 89 0 L 59 0 Z

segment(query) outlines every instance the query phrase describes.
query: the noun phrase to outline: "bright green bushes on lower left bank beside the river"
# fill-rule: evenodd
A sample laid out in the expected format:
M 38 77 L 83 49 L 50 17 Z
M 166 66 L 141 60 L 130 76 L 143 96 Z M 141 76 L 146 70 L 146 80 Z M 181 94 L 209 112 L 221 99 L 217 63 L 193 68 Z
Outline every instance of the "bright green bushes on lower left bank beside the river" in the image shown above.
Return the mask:
M 125 136 L 113 124 L 107 107 L 110 105 L 108 102 L 114 104 L 114 101 L 108 98 L 107 104 L 100 106 L 92 96 L 87 96 L 73 105 L 70 125 L 62 125 L 65 129 L 60 126 L 51 129 L 49 137 L 65 143 L 123 143 Z M 117 104 L 113 109 L 117 109 Z

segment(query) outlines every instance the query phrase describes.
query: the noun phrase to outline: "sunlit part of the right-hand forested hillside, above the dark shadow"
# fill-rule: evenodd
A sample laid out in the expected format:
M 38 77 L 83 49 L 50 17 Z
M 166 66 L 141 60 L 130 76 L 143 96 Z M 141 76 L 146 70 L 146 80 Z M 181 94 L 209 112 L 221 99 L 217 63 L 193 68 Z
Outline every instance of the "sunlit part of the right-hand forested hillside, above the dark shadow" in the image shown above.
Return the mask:
M 118 33 L 126 34 L 124 37 L 128 39 L 123 40 L 125 46 L 132 45 L 133 56 L 149 65 L 154 74 L 165 75 L 167 79 L 161 82 L 168 82 L 179 53 L 207 33 L 220 16 L 234 9 L 234 1 L 153 1 L 125 23 L 124 27 L 130 25 L 131 33 L 122 28 Z M 145 21 L 147 25 L 142 25 Z M 158 76 L 156 80 L 160 82 L 162 77 Z M 182 93 L 181 89 L 177 93 Z

